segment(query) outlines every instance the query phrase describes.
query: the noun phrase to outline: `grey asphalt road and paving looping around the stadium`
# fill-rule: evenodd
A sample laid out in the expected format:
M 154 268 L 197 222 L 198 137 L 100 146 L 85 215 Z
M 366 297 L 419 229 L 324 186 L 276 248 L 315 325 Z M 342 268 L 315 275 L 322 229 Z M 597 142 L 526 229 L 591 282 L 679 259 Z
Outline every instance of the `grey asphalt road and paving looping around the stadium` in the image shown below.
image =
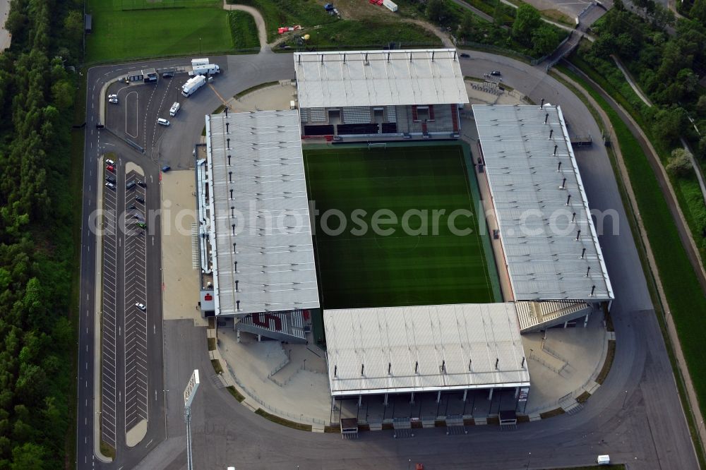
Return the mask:
M 561 104 L 570 126 L 581 129 L 582 133 L 591 133 L 597 140 L 600 133 L 588 110 L 556 80 L 512 59 L 480 52 L 468 53 L 472 60 L 462 62 L 465 75 L 481 77 L 488 71 L 499 70 L 503 73 L 504 83 L 537 102 L 544 98 L 551 104 Z M 172 64 L 175 61 L 157 61 L 151 66 Z M 145 65 L 133 64 L 129 68 Z M 251 85 L 294 76 L 289 54 L 229 56 L 227 66 L 227 72 L 214 83 L 215 90 L 223 97 Z M 87 190 L 90 162 L 94 161 L 95 149 L 99 145 L 93 126 L 97 109 L 92 109 L 91 102 L 97 100 L 103 80 L 126 69 L 127 66 L 105 66 L 92 68 L 89 72 L 84 215 L 90 212 L 91 201 L 95 200 Z M 200 90 L 193 100 L 189 98 L 189 119 L 180 116 L 179 132 L 165 133 L 152 150 L 152 155 L 157 152 L 155 163 L 160 162 L 163 155 L 173 152 L 191 153 L 203 128 L 201 116 L 220 104 L 215 93 L 205 91 Z M 104 142 L 104 135 L 100 136 L 100 145 Z M 123 155 L 133 158 L 134 152 L 127 150 L 126 154 L 121 153 L 121 158 Z M 511 432 L 501 432 L 496 426 L 471 426 L 467 435 L 460 436 L 446 436 L 443 430 L 429 429 L 418 430 L 414 438 L 395 440 L 389 431 L 380 431 L 363 433 L 359 440 L 349 441 L 341 440 L 337 434 L 304 433 L 265 421 L 236 402 L 226 390 L 217 388 L 210 380 L 213 368 L 205 348 L 205 331 L 193 327 L 189 321 L 174 320 L 164 324 L 167 435 L 162 432 L 150 447 L 145 448 L 149 433 L 156 433 L 150 422 L 151 431 L 140 446 L 129 451 L 119 448 L 115 464 L 96 462 L 95 466 L 185 468 L 181 392 L 191 370 L 199 368 L 202 385 L 192 409 L 193 459 L 197 469 L 225 468 L 227 465 L 246 469 L 294 469 L 297 466 L 301 469 L 403 469 L 407 468 L 410 459 L 412 463 L 424 462 L 428 469 L 538 469 L 590 464 L 597 454 L 611 454 L 616 462 L 628 462 L 630 469 L 698 468 L 609 159 L 605 149 L 598 145 L 579 150 L 577 159 L 591 207 L 614 211 L 610 212 L 612 217 L 606 217 L 604 234 L 599 239 L 617 297 L 613 318 L 618 339 L 611 373 L 577 414 L 523 424 Z M 616 229 L 615 234 L 613 229 Z M 91 247 L 88 251 L 91 236 L 83 232 L 82 312 L 88 312 L 89 305 L 92 308 L 90 298 L 95 273 L 90 270 L 93 269 L 92 253 L 95 250 Z M 155 246 L 158 245 L 155 242 Z M 152 250 L 152 253 L 156 252 Z M 158 265 L 159 258 L 154 258 L 153 262 Z M 91 315 L 85 321 L 81 316 L 80 361 L 92 357 L 90 322 Z M 88 337 L 86 327 L 90 330 Z M 159 330 L 157 333 L 161 334 Z M 85 350 L 86 346 L 89 351 Z M 151 364 L 155 369 L 160 366 L 157 361 Z M 88 388 L 83 387 L 86 380 Z M 79 377 L 79 404 L 83 404 L 85 398 L 92 398 L 91 380 L 92 368 L 89 368 Z M 92 444 L 83 445 L 84 438 L 89 443 L 92 440 L 92 421 L 89 419 L 88 425 L 84 425 L 83 419 L 91 413 L 92 409 L 79 407 L 80 468 L 93 467 L 90 463 Z

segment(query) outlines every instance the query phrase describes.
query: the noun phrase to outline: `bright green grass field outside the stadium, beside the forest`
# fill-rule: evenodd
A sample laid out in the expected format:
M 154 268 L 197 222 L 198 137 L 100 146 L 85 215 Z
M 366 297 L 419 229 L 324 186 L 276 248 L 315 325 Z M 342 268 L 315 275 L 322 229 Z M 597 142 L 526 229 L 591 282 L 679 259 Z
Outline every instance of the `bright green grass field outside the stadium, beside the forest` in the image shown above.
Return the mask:
M 129 8 L 148 4 L 144 0 L 129 3 Z M 86 39 L 86 61 L 205 55 L 259 46 L 254 21 L 246 23 L 237 16 L 234 22 L 229 21 L 220 1 L 179 4 L 186 6 L 165 8 L 157 3 L 150 4 L 155 5 L 152 9 L 124 9 L 127 4 L 119 0 L 91 2 L 88 8 L 93 15 L 93 32 Z

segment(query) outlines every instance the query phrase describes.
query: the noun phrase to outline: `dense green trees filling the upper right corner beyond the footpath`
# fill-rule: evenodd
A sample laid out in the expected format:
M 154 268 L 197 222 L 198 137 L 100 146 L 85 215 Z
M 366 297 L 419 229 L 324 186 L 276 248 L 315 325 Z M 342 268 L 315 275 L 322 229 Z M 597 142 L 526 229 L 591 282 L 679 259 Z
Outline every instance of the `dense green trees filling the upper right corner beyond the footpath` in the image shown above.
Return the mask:
M 706 76 L 706 25 L 675 20 L 652 0 L 639 4 L 636 13 L 616 0 L 594 32 L 598 38 L 582 50 L 583 58 L 601 70 L 614 68 L 610 56 L 615 54 L 628 66 L 655 105 L 633 103 L 652 123 L 659 144 L 674 147 L 684 137 L 706 158 L 706 96 L 700 84 Z

